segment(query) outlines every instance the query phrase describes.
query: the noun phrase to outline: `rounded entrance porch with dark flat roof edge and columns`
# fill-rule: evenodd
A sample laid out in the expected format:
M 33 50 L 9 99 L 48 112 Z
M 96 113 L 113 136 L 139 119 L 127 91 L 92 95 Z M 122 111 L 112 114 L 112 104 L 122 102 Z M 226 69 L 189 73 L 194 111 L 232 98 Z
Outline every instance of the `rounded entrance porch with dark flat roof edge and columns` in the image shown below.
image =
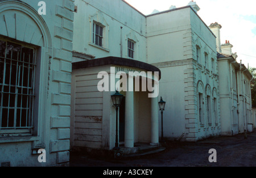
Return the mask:
M 121 77 L 122 76 L 122 77 Z M 148 63 L 119 57 L 72 65 L 71 146 L 112 150 L 135 143 L 159 145 L 158 83 L 160 70 Z M 123 99 L 116 111 L 112 95 Z

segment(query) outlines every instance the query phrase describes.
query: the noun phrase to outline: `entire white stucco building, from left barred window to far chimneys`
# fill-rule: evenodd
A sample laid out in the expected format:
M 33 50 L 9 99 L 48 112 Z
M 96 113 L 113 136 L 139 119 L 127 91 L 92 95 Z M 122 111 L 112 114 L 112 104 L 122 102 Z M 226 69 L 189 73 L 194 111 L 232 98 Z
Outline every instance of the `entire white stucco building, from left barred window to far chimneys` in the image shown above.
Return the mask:
M 111 95 L 121 88 L 118 141 L 131 152 L 159 146 L 160 96 L 168 139 L 233 135 L 255 123 L 251 74 L 223 52 L 232 45 L 221 45 L 221 26 L 208 27 L 195 2 L 151 15 L 123 0 L 44 2 L 46 15 L 39 1 L 0 1 L 1 166 L 67 166 L 71 150 L 113 150 Z M 103 79 L 108 91 L 99 90 Z

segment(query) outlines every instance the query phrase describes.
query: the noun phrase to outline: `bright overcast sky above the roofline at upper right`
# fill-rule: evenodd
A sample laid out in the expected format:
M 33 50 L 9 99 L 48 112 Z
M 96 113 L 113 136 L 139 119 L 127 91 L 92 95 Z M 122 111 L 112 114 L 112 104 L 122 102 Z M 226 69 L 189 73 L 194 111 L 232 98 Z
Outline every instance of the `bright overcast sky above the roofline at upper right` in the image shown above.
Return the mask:
M 168 10 L 171 5 L 187 6 L 189 0 L 125 0 L 144 15 L 153 10 Z M 201 19 L 209 26 L 221 24 L 221 44 L 225 40 L 233 45 L 232 52 L 237 52 L 237 61 L 247 67 L 256 67 L 256 1 L 255 0 L 197 0 Z

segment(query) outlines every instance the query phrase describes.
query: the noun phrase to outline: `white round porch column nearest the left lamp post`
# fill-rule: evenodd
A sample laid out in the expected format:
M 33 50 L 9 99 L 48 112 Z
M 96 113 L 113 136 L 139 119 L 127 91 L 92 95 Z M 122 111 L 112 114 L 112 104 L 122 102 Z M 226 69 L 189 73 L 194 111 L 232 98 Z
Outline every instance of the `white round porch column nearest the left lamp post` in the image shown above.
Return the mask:
M 134 147 L 134 92 L 126 91 L 125 98 L 125 147 Z

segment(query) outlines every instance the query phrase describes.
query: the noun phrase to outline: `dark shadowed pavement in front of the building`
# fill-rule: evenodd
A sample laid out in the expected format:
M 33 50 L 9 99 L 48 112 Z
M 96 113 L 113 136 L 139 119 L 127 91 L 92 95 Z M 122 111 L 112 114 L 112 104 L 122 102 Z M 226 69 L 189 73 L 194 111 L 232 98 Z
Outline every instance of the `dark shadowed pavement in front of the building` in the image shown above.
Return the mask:
M 156 154 L 119 160 L 71 154 L 71 167 L 255 167 L 256 130 L 253 133 L 222 136 L 198 142 L 167 142 Z M 217 163 L 210 163 L 210 149 L 217 151 Z

